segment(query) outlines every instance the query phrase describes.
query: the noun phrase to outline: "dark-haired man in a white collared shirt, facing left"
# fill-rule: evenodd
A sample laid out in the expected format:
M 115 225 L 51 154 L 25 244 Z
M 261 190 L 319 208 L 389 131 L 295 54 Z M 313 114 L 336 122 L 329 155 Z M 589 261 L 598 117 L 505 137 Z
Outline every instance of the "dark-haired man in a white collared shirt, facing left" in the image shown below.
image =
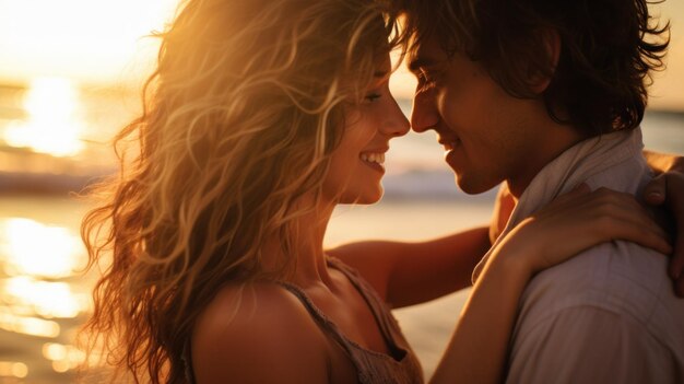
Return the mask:
M 581 183 L 641 196 L 645 79 L 669 38 L 649 23 L 645 0 L 410 2 L 412 127 L 437 132 L 464 191 L 505 182 L 516 208 L 499 241 Z M 612 242 L 536 276 L 506 381 L 684 382 L 684 301 L 667 264 Z

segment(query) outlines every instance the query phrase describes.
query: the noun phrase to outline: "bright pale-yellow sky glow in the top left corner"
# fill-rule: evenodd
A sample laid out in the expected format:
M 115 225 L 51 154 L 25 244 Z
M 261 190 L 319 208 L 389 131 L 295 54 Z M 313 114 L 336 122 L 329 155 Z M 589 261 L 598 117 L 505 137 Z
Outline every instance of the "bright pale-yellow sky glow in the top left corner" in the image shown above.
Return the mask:
M 134 80 L 155 57 L 178 0 L 0 0 L 0 81 L 57 75 Z M 134 80 L 137 81 L 137 80 Z

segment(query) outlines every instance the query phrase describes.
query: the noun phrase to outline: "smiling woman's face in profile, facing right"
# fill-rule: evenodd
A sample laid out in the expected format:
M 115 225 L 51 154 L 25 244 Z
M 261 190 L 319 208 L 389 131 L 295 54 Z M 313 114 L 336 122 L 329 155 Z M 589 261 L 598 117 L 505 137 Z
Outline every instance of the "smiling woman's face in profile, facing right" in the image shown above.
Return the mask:
M 373 203 L 382 197 L 380 181 L 389 140 L 409 131 L 409 121 L 389 92 L 390 70 L 388 55 L 363 102 L 345 109 L 344 133 L 332 153 L 323 182 L 326 199 L 338 203 Z

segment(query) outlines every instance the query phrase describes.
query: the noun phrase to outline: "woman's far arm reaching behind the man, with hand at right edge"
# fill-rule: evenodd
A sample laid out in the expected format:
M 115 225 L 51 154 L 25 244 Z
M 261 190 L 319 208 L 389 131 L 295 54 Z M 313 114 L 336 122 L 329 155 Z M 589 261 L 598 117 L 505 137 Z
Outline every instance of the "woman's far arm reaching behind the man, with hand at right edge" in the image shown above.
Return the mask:
M 647 186 L 645 200 L 664 206 L 674 223 L 684 222 L 684 158 L 649 151 L 644 154 L 651 168 L 662 173 Z M 329 254 L 356 268 L 393 307 L 422 303 L 470 287 L 472 269 L 504 230 L 514 207 L 512 196 L 503 185 L 488 228 L 421 243 L 358 242 Z M 684 225 L 662 221 L 661 225 L 673 230 L 669 272 L 675 292 L 684 296 Z

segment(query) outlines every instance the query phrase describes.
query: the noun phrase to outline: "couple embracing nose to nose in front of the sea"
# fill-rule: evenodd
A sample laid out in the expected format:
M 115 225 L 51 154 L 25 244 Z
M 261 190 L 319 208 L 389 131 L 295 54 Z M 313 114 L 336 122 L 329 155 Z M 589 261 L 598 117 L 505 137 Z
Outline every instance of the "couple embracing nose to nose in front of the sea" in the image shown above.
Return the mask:
M 390 310 L 472 283 L 432 382 L 682 382 L 684 246 L 650 211 L 684 220 L 684 162 L 639 128 L 668 33 L 644 0 L 185 1 L 83 223 L 91 341 L 143 382 L 421 383 Z M 503 183 L 492 226 L 323 249 L 409 129 Z

